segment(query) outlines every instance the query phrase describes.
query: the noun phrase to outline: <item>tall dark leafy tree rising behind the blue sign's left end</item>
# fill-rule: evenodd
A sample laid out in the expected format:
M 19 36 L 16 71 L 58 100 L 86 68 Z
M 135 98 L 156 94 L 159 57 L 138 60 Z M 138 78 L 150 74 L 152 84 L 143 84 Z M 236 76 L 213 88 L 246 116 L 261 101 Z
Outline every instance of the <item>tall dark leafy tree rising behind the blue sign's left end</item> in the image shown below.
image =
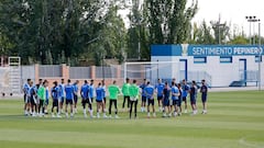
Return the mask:
M 182 44 L 190 31 L 197 1 L 186 8 L 187 0 L 146 0 L 147 24 L 152 44 Z

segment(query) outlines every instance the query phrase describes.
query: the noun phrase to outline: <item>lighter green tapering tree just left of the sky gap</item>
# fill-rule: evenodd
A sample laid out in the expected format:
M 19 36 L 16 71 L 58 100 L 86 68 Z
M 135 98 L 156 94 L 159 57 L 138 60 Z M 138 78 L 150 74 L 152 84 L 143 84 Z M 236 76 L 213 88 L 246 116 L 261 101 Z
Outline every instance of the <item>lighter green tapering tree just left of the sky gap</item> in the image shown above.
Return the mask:
M 127 30 L 121 15 L 118 14 L 119 9 L 120 5 L 114 2 L 109 3 L 106 14 L 100 15 L 100 21 L 95 25 L 97 37 L 95 36 L 89 50 L 94 53 L 97 65 L 101 65 L 105 58 L 116 58 L 119 62 L 124 60 Z

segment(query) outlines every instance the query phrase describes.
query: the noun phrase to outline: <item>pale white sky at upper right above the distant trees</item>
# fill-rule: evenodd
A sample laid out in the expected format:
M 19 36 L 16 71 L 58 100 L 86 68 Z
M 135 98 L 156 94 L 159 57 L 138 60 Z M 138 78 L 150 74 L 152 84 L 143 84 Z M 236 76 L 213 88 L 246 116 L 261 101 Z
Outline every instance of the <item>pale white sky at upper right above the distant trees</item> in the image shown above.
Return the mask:
M 190 3 L 191 0 L 188 0 Z M 217 21 L 219 14 L 221 22 L 231 23 L 232 27 L 243 29 L 249 35 L 250 25 L 245 20 L 246 15 L 255 15 L 262 22 L 262 35 L 264 35 L 264 0 L 198 0 L 199 11 L 194 22 L 200 23 L 206 20 Z M 253 32 L 253 25 L 252 25 Z M 255 33 L 257 33 L 257 24 L 255 23 Z

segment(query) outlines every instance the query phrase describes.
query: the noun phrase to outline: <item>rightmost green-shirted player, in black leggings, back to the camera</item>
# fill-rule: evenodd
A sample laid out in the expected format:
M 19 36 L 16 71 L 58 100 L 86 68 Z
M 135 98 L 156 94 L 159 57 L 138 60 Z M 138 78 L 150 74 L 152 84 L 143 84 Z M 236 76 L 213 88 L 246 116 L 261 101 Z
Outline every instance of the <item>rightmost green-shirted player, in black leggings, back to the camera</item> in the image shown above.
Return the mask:
M 136 86 L 136 80 L 133 80 L 133 84 L 130 86 L 129 90 L 130 90 L 130 118 L 133 110 L 133 104 L 134 104 L 134 118 L 136 118 L 136 107 L 140 94 L 140 88 Z

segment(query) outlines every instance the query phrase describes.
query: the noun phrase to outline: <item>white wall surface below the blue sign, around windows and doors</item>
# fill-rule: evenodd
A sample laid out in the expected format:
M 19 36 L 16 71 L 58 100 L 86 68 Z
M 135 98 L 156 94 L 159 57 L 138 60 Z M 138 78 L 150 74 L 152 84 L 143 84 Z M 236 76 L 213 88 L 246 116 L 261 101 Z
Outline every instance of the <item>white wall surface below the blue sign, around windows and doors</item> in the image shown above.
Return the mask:
M 239 73 L 239 60 L 241 58 L 246 59 L 248 70 L 258 70 L 258 64 L 255 62 L 254 56 L 233 56 L 232 64 L 221 64 L 219 56 L 208 56 L 207 64 L 194 64 L 194 57 L 191 56 L 155 56 L 152 57 L 152 61 L 179 61 L 179 59 L 188 60 L 188 71 L 206 71 L 208 72 L 212 80 L 211 87 L 228 87 L 232 81 L 240 80 Z M 179 65 L 178 65 L 179 66 Z M 161 76 L 173 76 L 173 78 L 178 78 L 179 68 L 177 66 L 172 66 L 172 70 L 161 69 Z M 170 72 L 170 73 L 169 73 Z M 262 62 L 262 86 L 264 86 L 264 62 Z

